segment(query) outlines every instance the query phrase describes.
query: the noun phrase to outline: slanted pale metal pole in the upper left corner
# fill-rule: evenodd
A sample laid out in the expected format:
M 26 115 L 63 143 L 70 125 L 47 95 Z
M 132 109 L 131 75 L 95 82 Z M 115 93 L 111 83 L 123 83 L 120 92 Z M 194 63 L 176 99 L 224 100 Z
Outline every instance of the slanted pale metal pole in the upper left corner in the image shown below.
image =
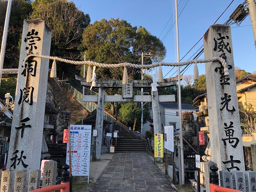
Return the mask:
M 12 7 L 12 0 L 8 0 L 5 22 L 4 22 L 1 53 L 0 53 L 0 85 L 1 85 L 1 79 L 2 79 L 2 69 L 4 65 L 4 54 L 5 54 L 6 39 L 7 39 L 8 26 L 9 26 L 10 14 L 11 14 L 11 7 Z

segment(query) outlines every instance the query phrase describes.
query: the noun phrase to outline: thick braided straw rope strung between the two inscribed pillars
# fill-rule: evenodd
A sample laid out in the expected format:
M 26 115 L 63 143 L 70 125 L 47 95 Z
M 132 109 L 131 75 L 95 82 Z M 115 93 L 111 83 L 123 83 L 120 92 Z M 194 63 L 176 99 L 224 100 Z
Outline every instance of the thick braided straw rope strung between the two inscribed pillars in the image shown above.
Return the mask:
M 140 68 L 140 69 L 150 69 L 153 67 L 158 67 L 158 66 L 184 66 L 184 65 L 189 65 L 193 63 L 207 63 L 207 62 L 213 62 L 213 61 L 219 61 L 222 63 L 222 66 L 224 67 L 224 75 L 229 75 L 228 72 L 228 65 L 226 61 L 221 58 L 221 57 L 213 57 L 213 58 L 207 58 L 207 59 L 197 59 L 197 60 L 188 60 L 185 62 L 179 62 L 179 63 L 166 63 L 166 62 L 158 62 L 154 64 L 149 64 L 149 65 L 138 65 L 138 64 L 132 64 L 132 63 L 119 63 L 119 64 L 104 64 L 104 63 L 98 63 L 94 61 L 72 61 L 72 60 L 67 60 L 59 57 L 53 57 L 53 56 L 45 56 L 45 55 L 37 55 L 37 54 L 30 54 L 28 55 L 24 62 L 23 66 L 25 66 L 25 63 L 27 62 L 28 58 L 30 57 L 39 57 L 39 58 L 46 58 L 46 59 L 52 59 L 52 60 L 57 60 L 60 62 L 65 62 L 69 64 L 74 64 L 74 65 L 84 65 L 88 64 L 91 66 L 97 66 L 97 67 L 103 67 L 103 68 L 120 68 L 120 67 L 131 67 L 131 68 Z

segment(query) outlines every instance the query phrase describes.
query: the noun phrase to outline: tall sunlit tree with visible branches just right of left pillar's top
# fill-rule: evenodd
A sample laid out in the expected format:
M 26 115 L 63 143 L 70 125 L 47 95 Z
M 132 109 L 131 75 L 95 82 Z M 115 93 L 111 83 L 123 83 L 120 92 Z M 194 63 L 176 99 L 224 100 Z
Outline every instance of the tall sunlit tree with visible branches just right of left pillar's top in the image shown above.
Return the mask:
M 78 45 L 82 32 L 90 23 L 90 16 L 78 10 L 74 2 L 67 0 L 35 0 L 31 3 L 33 12 L 30 19 L 41 18 L 52 30 L 51 56 L 76 60 L 80 57 Z M 80 67 L 70 64 L 57 64 L 57 76 L 74 77 Z

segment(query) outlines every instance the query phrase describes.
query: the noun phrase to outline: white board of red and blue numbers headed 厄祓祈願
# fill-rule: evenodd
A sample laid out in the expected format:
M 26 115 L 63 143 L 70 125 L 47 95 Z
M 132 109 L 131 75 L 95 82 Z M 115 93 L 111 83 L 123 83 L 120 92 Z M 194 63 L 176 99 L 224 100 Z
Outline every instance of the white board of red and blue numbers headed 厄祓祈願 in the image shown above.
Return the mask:
M 73 176 L 89 176 L 91 125 L 70 125 L 71 170 Z M 66 164 L 69 164 L 67 147 Z

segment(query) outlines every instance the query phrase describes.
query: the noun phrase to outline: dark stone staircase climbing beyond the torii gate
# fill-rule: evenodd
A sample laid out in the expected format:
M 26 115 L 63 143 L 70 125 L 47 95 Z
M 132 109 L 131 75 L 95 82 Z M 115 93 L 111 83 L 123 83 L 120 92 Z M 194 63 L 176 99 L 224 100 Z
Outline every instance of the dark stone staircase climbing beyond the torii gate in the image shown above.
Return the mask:
M 118 138 L 113 138 L 112 145 L 115 146 L 115 152 L 147 152 L 146 140 L 136 138 L 134 134 L 122 128 L 119 124 L 113 125 L 113 132 L 118 131 Z M 117 142 L 116 142 L 117 140 Z

